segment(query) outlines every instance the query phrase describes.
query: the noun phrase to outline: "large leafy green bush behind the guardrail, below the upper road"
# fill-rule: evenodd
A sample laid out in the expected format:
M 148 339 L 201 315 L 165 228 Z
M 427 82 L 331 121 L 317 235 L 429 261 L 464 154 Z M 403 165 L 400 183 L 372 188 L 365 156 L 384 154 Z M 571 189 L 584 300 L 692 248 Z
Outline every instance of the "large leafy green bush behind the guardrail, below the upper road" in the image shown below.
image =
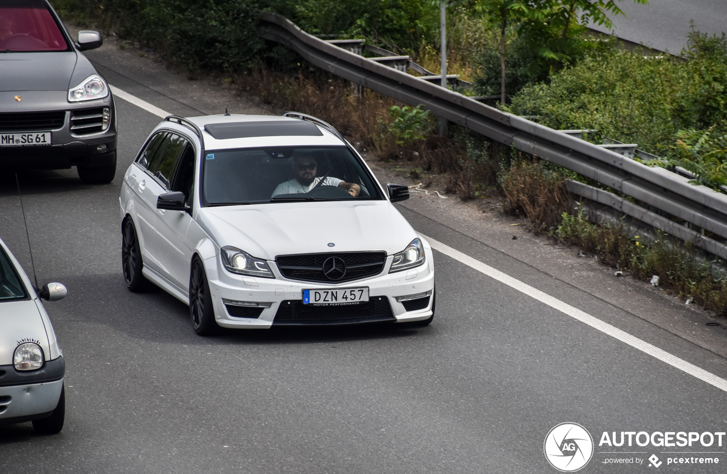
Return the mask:
M 727 118 L 727 43 L 692 32 L 681 58 L 597 49 L 550 83 L 524 88 L 507 107 L 557 129 L 590 128 L 673 158 L 677 133 Z

